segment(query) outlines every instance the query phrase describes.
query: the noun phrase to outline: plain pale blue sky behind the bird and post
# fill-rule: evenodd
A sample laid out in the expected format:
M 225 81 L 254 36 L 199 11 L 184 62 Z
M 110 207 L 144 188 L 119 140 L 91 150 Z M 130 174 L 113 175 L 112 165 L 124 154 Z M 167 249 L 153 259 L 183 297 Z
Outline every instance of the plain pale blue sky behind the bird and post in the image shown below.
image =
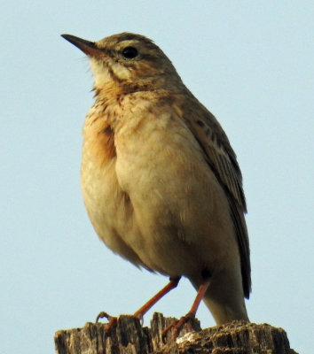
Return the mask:
M 161 46 L 224 127 L 247 196 L 249 317 L 312 352 L 313 18 L 310 0 L 2 2 L 0 354 L 53 353 L 55 331 L 135 312 L 168 281 L 107 250 L 82 203 L 93 80 L 59 35 L 123 31 Z M 153 311 L 180 317 L 194 296 L 183 280 Z M 198 318 L 215 325 L 204 305 Z

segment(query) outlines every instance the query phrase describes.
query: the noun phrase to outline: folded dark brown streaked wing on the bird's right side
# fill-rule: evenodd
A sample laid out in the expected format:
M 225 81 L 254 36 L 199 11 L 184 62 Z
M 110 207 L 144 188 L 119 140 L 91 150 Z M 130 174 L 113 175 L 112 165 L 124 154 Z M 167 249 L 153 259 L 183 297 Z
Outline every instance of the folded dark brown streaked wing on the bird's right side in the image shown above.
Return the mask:
M 239 244 L 243 290 L 244 295 L 248 298 L 251 291 L 251 266 L 247 226 L 244 219 L 247 205 L 242 187 L 242 174 L 236 154 L 232 150 L 224 129 L 213 114 L 195 98 L 186 102 L 185 96 L 183 104 L 181 112 L 184 112 L 185 124 L 199 142 L 204 152 L 204 158 L 216 174 L 217 180 L 223 186 L 228 197 Z

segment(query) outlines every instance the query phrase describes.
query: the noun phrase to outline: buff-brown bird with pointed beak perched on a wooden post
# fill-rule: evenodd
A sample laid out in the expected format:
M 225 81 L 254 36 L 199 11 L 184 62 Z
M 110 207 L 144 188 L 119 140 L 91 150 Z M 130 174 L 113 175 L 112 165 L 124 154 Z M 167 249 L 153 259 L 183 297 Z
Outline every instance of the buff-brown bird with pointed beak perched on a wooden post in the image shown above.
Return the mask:
M 216 117 L 184 86 L 149 38 L 123 32 L 98 42 L 62 35 L 90 59 L 95 103 L 83 126 L 81 187 L 98 237 L 197 296 L 172 327 L 178 335 L 202 300 L 216 324 L 249 320 L 246 199 L 236 154 Z M 204 88 L 206 89 L 206 88 Z M 109 326 L 116 318 L 107 317 Z

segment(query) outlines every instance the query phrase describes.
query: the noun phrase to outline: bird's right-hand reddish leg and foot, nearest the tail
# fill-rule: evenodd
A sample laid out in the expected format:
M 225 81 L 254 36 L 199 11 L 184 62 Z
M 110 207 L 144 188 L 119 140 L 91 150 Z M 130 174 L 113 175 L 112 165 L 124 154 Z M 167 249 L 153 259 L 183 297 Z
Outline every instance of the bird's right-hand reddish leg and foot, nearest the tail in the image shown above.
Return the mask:
M 197 309 L 200 306 L 200 301 L 203 298 L 203 296 L 205 295 L 206 290 L 208 289 L 209 283 L 210 283 L 210 278 L 204 279 L 204 281 L 200 284 L 200 288 L 197 292 L 197 295 L 195 297 L 195 300 L 192 304 L 190 311 L 187 312 L 185 316 L 181 317 L 181 319 L 177 319 L 177 321 L 175 321 L 174 323 L 171 323 L 171 325 L 166 327 L 165 330 L 163 331 L 163 335 L 162 335 L 163 338 L 165 338 L 166 335 L 168 334 L 169 330 L 173 328 L 174 331 L 173 331 L 171 339 L 173 341 L 175 341 L 177 339 L 177 335 L 179 335 L 182 327 L 184 326 L 184 323 L 188 322 L 189 319 L 193 319 L 195 317 Z M 192 330 L 192 328 L 191 328 L 191 330 Z

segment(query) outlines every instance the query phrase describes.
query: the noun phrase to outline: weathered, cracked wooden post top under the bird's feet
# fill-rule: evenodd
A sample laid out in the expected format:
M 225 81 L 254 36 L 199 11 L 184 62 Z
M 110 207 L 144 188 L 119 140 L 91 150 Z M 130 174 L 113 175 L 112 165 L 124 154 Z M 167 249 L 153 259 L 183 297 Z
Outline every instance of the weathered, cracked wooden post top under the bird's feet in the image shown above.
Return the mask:
M 151 327 L 138 319 L 122 315 L 106 333 L 103 323 L 86 323 L 82 328 L 60 330 L 55 335 L 57 354 L 297 354 L 290 349 L 282 328 L 233 321 L 223 326 L 200 329 L 194 319 L 185 325 L 176 342 L 162 334 L 174 319 L 154 313 Z M 191 326 L 194 332 L 189 332 Z

